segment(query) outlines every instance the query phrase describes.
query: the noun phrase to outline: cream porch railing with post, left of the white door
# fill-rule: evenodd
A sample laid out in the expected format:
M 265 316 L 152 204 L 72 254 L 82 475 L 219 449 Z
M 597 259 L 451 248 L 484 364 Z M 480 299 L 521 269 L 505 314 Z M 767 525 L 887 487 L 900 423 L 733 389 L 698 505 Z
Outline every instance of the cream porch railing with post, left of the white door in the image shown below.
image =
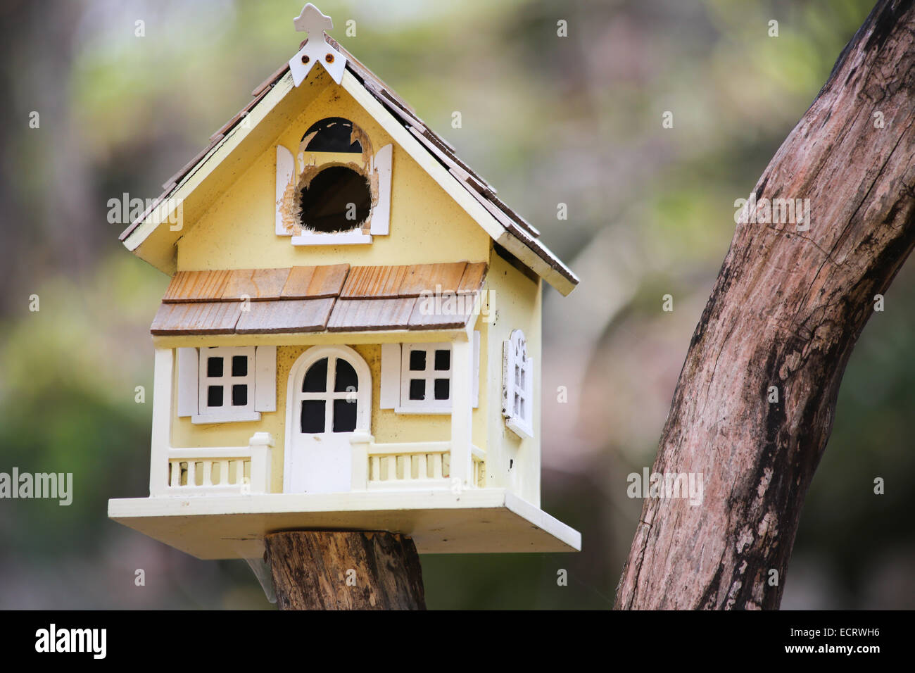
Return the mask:
M 257 432 L 246 447 L 168 450 L 167 495 L 269 493 L 268 432 Z

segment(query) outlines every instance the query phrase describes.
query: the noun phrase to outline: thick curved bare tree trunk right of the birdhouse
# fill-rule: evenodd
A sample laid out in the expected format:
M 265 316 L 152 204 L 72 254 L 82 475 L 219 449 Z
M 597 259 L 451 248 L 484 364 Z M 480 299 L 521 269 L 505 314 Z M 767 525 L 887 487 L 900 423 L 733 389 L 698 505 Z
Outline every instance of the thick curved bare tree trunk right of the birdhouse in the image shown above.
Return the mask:
M 645 499 L 617 608 L 778 608 L 845 364 L 915 242 L 913 35 L 910 1 L 877 3 L 759 179 L 654 462 L 701 475 L 704 500 Z M 776 198 L 812 219 L 767 220 Z

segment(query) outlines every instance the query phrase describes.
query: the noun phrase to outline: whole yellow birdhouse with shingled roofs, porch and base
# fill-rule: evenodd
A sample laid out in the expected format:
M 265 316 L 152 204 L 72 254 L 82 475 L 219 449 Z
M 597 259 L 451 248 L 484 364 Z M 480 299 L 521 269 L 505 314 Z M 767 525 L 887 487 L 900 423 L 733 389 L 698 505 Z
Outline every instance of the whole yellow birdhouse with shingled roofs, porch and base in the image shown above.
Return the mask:
M 152 323 L 149 497 L 109 516 L 201 559 L 276 530 L 420 553 L 571 551 L 540 509 L 543 281 L 576 276 L 390 87 L 307 41 L 126 231 Z

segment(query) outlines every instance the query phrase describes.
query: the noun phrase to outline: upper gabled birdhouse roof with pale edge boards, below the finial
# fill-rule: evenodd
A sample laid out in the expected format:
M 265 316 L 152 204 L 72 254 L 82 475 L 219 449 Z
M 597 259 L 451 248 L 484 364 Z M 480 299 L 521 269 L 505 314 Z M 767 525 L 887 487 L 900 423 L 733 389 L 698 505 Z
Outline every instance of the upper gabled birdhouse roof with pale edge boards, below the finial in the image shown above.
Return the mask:
M 496 190 L 462 161 L 455 154 L 455 148 L 432 131 L 391 87 L 336 40 L 327 35 L 321 37 L 345 57 L 345 71 L 340 72 L 340 84 L 393 136 L 398 145 L 425 168 L 496 244 L 520 259 L 524 266 L 562 294 L 571 292 L 578 284 L 578 278 L 540 241 L 540 233 L 533 225 L 503 203 Z M 318 36 L 312 39 L 318 39 Z M 302 43 L 303 49 L 307 49 L 307 42 Z M 162 195 L 121 233 L 120 239 L 128 249 L 153 266 L 174 273 L 174 245 L 180 232 L 170 233 L 167 223 L 169 209 L 173 207 L 170 201 L 187 200 L 191 192 L 199 188 L 201 181 L 216 170 L 216 165 L 242 145 L 266 114 L 296 91 L 293 75 L 288 62 L 275 71 L 253 90 L 252 101 L 210 136 L 210 144 L 167 179 Z M 242 124 L 246 118 L 248 123 Z M 420 155 L 424 156 L 421 158 Z M 430 162 L 430 158 L 433 161 Z

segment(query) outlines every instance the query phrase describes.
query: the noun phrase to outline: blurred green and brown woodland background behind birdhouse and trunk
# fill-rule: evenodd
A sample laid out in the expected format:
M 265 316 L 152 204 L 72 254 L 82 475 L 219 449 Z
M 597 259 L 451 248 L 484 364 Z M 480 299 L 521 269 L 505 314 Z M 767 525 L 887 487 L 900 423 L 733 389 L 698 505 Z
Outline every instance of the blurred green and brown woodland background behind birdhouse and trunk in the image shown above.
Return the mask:
M 0 5 L 0 472 L 73 472 L 75 492 L 69 507 L 0 500 L 0 608 L 273 609 L 243 561 L 193 559 L 106 517 L 109 497 L 148 494 L 148 330 L 168 281 L 124 249 L 123 226 L 106 215 L 124 192 L 155 198 L 295 53 L 302 4 Z M 584 549 L 424 556 L 428 606 L 609 608 L 641 508 L 626 475 L 654 459 L 734 201 L 873 3 L 318 5 L 331 34 L 582 280 L 568 299 L 545 290 L 543 507 L 582 532 Z M 348 19 L 356 37 L 346 37 Z M 460 129 L 450 125 L 456 110 Z M 665 112 L 673 128 L 662 128 Z M 915 607 L 912 265 L 848 365 L 783 608 Z M 661 310 L 665 294 L 673 312 Z M 873 494 L 877 476 L 885 495 Z M 560 569 L 568 586 L 556 584 Z

